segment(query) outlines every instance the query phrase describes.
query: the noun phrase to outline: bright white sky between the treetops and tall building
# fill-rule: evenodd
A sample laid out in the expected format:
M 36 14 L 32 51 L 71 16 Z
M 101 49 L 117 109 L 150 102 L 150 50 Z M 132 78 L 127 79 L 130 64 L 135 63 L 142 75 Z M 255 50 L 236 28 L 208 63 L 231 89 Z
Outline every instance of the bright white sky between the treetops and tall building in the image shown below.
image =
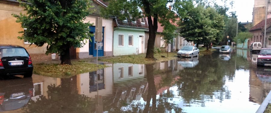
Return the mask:
M 236 11 L 238 22 L 252 22 L 252 12 L 254 7 L 254 0 L 232 0 L 233 7 L 229 12 Z M 216 0 L 219 5 L 224 5 L 221 0 Z

